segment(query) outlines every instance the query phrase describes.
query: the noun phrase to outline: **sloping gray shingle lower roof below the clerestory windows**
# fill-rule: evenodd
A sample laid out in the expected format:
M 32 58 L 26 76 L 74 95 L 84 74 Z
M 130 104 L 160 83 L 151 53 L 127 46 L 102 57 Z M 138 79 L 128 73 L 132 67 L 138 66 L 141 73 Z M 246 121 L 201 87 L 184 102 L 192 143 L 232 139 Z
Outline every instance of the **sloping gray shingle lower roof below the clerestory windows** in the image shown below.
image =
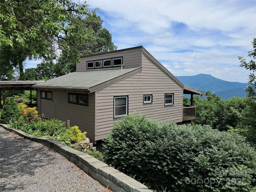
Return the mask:
M 46 82 L 34 85 L 33 87 L 46 88 L 70 88 L 70 89 L 90 89 L 96 85 L 122 76 L 138 68 L 108 69 L 108 70 L 88 70 L 66 74 Z

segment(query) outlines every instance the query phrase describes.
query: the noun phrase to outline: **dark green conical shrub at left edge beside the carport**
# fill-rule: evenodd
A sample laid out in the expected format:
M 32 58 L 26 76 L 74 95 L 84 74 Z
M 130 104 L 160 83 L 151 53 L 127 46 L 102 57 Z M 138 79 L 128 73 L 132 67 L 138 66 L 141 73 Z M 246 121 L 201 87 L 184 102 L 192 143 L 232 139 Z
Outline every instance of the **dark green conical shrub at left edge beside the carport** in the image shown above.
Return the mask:
M 12 120 L 17 120 L 20 117 L 20 110 L 13 97 L 6 98 L 5 105 L 1 111 L 0 122 L 8 124 Z

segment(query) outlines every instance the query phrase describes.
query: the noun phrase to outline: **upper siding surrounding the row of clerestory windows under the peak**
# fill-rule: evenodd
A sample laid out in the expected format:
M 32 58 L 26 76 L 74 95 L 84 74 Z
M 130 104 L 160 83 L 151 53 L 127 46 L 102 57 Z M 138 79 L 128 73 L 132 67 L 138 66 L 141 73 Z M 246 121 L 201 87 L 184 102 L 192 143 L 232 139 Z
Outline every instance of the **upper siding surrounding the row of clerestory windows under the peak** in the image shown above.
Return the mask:
M 110 52 L 108 54 L 96 54 L 92 56 L 82 57 L 80 63 L 76 64 L 76 71 L 86 71 L 87 61 L 116 57 L 123 57 L 124 68 L 137 68 L 142 65 L 141 55 L 142 49 L 140 48 L 136 50 L 124 50 L 121 52 Z M 100 68 L 98 68 L 97 70 L 100 70 Z

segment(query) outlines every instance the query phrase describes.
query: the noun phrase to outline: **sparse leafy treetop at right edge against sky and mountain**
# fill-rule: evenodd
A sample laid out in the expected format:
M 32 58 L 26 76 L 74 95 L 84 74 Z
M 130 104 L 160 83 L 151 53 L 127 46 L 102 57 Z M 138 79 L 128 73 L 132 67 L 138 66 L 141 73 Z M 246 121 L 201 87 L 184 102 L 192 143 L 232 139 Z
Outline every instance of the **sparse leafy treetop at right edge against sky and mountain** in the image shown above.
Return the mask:
M 252 41 L 253 50 L 248 52 L 248 57 L 252 57 L 252 60 L 249 62 L 246 62 L 246 59 L 238 56 L 240 60 L 240 66 L 244 67 L 251 71 L 249 78 L 248 78 L 248 84 L 251 86 L 246 87 L 247 96 L 256 100 L 256 38 Z

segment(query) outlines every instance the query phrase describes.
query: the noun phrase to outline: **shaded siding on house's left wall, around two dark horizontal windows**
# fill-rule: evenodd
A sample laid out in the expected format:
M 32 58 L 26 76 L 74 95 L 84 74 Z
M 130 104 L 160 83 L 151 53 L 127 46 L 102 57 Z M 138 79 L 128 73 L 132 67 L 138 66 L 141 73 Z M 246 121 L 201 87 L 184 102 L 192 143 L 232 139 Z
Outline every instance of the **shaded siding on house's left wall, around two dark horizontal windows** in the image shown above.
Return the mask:
M 88 95 L 88 106 L 68 103 L 68 90 L 47 90 L 52 91 L 52 100 L 40 99 L 38 91 L 38 112 L 44 114 L 47 118 L 54 118 L 56 106 L 56 118 L 62 121 L 70 120 L 70 126 L 77 125 L 90 140 L 94 138 L 95 127 L 95 93 Z M 83 92 L 73 91 L 72 93 L 85 94 Z

